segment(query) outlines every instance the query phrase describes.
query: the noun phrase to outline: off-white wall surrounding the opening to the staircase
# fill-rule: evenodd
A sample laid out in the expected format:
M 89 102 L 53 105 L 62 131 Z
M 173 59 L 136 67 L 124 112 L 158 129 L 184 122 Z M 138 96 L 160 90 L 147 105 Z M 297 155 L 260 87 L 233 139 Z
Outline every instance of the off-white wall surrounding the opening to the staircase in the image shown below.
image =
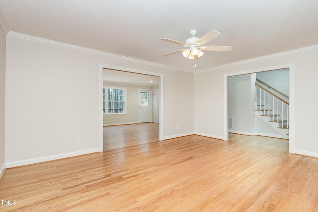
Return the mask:
M 294 95 L 294 126 L 290 129 L 292 131 L 290 134 L 294 136 L 294 152 L 318 157 L 316 133 L 318 130 L 318 122 L 316 121 L 318 115 L 315 111 L 316 108 L 311 107 L 318 104 L 318 98 L 313 98 L 317 96 L 317 57 L 318 46 L 313 46 L 196 73 L 194 77 L 195 131 L 224 138 L 222 101 L 225 74 L 293 64 L 294 91 L 290 91 L 290 93 Z

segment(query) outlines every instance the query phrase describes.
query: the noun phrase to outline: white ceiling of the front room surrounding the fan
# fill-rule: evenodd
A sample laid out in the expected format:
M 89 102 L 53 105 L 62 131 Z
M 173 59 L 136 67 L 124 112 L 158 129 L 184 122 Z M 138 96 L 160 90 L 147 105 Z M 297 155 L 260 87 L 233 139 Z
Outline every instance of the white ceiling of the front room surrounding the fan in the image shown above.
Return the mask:
M 144 60 L 182 71 L 199 71 L 318 44 L 318 0 L 1 0 L 10 31 Z M 161 41 L 185 42 L 211 30 L 206 45 L 233 46 L 199 60 Z M 193 69 L 193 64 L 196 68 Z

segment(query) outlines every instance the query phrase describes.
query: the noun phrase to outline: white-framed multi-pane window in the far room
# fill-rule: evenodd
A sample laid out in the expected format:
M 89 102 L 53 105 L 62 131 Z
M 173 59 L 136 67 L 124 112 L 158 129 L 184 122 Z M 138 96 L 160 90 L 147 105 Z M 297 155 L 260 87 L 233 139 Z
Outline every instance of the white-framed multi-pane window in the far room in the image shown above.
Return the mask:
M 104 87 L 103 113 L 125 114 L 126 112 L 126 87 Z

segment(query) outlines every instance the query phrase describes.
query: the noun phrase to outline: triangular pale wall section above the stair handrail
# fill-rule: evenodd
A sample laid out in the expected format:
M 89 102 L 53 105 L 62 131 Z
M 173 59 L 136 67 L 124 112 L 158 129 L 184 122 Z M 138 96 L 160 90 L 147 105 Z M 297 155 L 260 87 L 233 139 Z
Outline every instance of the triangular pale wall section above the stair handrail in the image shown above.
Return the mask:
M 289 96 L 288 69 L 259 72 L 257 73 L 257 79 L 263 81 L 277 91 L 285 94 L 287 97 Z

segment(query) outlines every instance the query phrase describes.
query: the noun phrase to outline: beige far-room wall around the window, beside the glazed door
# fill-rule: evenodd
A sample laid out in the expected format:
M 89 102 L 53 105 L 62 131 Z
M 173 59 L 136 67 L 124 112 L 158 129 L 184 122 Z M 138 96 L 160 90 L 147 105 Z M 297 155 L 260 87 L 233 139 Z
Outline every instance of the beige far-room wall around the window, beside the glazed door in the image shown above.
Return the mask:
M 127 88 L 127 114 L 104 115 L 104 126 L 138 123 L 138 89 L 152 89 L 152 86 L 114 82 L 104 82 L 104 86 L 119 86 Z

